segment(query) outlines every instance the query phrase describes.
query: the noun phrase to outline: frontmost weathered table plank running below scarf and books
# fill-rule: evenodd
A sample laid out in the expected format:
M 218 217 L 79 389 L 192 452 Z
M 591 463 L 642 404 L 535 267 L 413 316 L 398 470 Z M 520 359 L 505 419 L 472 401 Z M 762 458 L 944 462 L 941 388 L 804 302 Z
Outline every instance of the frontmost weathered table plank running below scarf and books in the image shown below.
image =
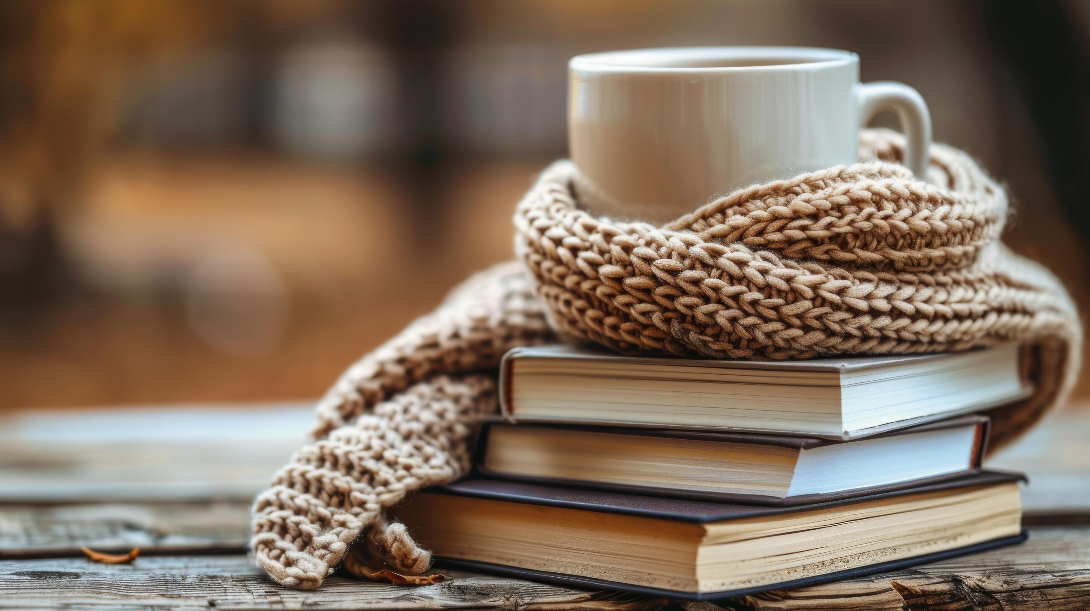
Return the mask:
M 94 564 L 83 559 L 0 561 L 0 609 L 657 609 L 663 604 L 616 592 L 579 592 L 457 572 L 450 575 L 453 578 L 447 583 L 417 588 L 335 576 L 317 591 L 299 591 L 270 583 L 243 555 L 142 556 L 133 565 Z M 1030 541 L 1018 548 L 722 603 L 725 609 L 754 611 L 1082 610 L 1088 606 L 1087 527 L 1034 528 Z

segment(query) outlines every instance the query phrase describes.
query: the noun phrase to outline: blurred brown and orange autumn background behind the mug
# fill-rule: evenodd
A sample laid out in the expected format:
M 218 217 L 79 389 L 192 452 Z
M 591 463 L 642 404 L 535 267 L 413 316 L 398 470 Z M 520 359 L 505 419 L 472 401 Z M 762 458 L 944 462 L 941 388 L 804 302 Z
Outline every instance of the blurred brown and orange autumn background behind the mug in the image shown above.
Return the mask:
M 5 0 L 0 408 L 318 396 L 511 256 L 568 58 L 618 48 L 858 52 L 1086 308 L 1088 34 L 1077 1 Z

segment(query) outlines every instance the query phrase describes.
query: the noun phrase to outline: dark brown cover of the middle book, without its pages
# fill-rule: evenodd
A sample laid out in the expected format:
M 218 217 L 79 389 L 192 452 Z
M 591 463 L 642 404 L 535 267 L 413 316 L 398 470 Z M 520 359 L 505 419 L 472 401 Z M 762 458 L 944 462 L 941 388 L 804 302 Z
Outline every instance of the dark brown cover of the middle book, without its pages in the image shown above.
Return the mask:
M 501 419 L 497 420 L 502 422 Z M 727 502 L 727 503 L 767 505 L 767 506 L 795 506 L 795 505 L 808 505 L 813 503 L 821 503 L 823 501 L 850 500 L 875 493 L 916 489 L 923 484 L 964 478 L 966 476 L 977 474 L 981 469 L 981 460 L 986 450 L 988 432 L 991 427 L 991 419 L 989 419 L 985 416 L 973 415 L 973 416 L 961 416 L 957 418 L 949 418 L 936 422 L 929 422 L 909 429 L 892 431 L 874 435 L 874 438 L 868 438 L 868 439 L 887 438 L 887 436 L 904 435 L 909 433 L 937 431 L 944 429 L 965 427 L 969 424 L 976 424 L 978 427 L 978 430 L 976 435 L 976 442 L 972 448 L 972 456 L 970 459 L 971 467 L 968 470 L 944 474 L 924 479 L 896 482 L 885 486 L 858 488 L 852 490 L 828 492 L 823 494 L 802 494 L 796 496 L 780 498 L 780 496 L 770 496 L 763 494 L 732 494 L 724 492 L 666 489 L 657 487 L 626 486 L 626 484 L 595 482 L 586 480 L 573 480 L 565 478 L 514 476 L 514 475 L 495 472 L 485 466 L 485 452 L 487 448 L 488 431 L 491 430 L 491 427 L 497 422 L 497 420 L 489 421 L 487 426 L 483 428 L 481 432 L 481 439 L 477 443 L 476 456 L 474 458 L 475 471 L 488 478 L 505 479 L 511 481 L 530 481 L 530 482 L 545 483 L 545 484 L 585 488 L 591 490 L 628 492 L 632 494 L 665 496 L 673 499 L 690 499 L 697 501 Z M 790 447 L 798 450 L 820 447 L 823 445 L 852 443 L 852 441 L 827 440 L 821 438 L 767 435 L 759 433 L 731 433 L 731 432 L 706 431 L 706 430 L 645 429 L 645 428 L 630 428 L 630 427 L 592 427 L 592 426 L 579 426 L 579 424 L 570 424 L 570 426 L 520 424 L 520 426 L 534 427 L 534 428 L 549 428 L 549 429 L 593 430 L 593 431 L 610 432 L 618 434 L 649 435 L 649 436 L 679 439 L 679 440 L 713 441 L 723 443 L 741 443 L 741 444 L 754 444 L 754 445 L 774 445 L 774 446 Z

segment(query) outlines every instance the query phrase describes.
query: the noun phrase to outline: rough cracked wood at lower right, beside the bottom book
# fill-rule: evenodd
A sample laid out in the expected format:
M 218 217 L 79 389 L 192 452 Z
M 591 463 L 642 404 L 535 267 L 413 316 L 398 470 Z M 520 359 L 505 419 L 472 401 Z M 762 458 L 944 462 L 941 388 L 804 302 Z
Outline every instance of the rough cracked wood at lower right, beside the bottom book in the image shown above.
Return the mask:
M 923 611 L 1090 608 L 1090 527 L 1030 530 L 1017 548 L 724 603 L 747 611 Z

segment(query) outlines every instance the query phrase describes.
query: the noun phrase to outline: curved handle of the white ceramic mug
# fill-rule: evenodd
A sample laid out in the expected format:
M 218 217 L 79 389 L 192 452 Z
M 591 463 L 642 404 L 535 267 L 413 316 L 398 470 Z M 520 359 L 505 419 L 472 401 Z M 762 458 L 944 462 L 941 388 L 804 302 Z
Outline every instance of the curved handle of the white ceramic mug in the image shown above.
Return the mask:
M 900 118 L 900 129 L 905 132 L 908 146 L 905 148 L 905 165 L 920 180 L 924 180 L 928 169 L 928 152 L 931 149 L 931 112 L 920 92 L 904 83 L 879 81 L 859 85 L 860 127 L 865 127 L 875 115 L 893 110 Z

